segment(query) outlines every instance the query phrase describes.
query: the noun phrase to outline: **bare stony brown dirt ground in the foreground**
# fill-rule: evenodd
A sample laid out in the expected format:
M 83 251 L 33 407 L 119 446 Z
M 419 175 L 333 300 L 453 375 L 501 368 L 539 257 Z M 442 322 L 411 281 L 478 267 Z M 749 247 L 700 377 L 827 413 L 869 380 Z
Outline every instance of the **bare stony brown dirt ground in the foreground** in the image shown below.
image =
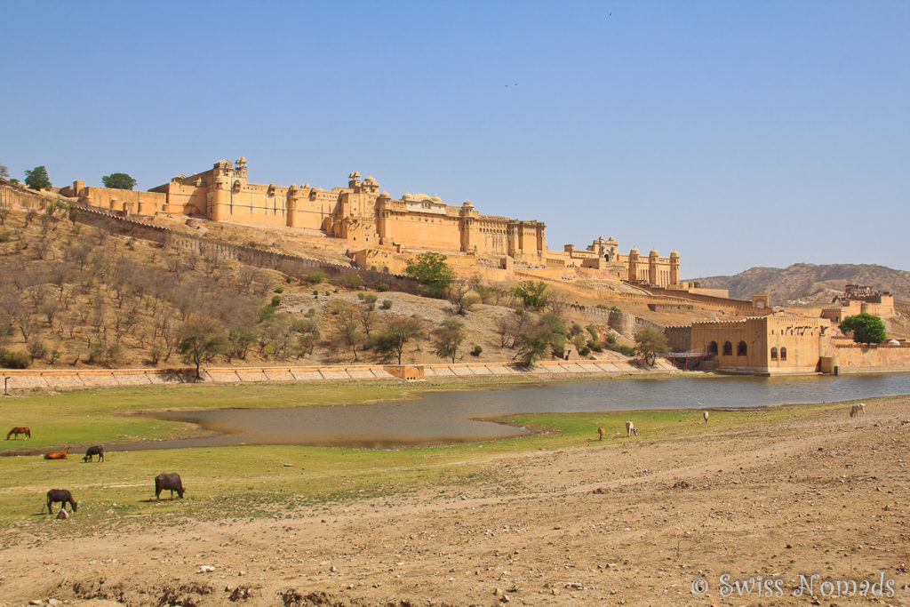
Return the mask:
M 281 519 L 14 523 L 0 604 L 910 604 L 908 437 L 910 399 L 889 400 L 502 456 L 499 481 Z

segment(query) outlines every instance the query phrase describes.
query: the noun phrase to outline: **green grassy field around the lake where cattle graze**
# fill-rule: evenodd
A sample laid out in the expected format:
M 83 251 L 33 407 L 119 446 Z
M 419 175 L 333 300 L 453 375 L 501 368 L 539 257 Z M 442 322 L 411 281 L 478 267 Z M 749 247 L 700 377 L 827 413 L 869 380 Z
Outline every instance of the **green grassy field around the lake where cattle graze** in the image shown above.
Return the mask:
M 495 383 L 501 384 L 501 380 Z M 32 440 L 4 441 L 7 450 L 35 450 L 69 444 L 171 439 L 192 435 L 189 424 L 148 420 L 130 414 L 167 409 L 318 406 L 413 398 L 431 389 L 485 388 L 494 382 L 401 384 L 349 382 L 317 385 L 188 386 L 179 388 L 74 391 L 56 396 L 2 400 L 0 428 L 28 425 Z M 0 521 L 41 521 L 45 492 L 73 491 L 80 503 L 78 526 L 116 524 L 124 515 L 185 515 L 196 518 L 292 515 L 301 506 L 327 507 L 338 501 L 386 497 L 400 499 L 430 486 L 451 491 L 477 481 L 495 481 L 508 491 L 509 479 L 496 478 L 490 458 L 500 454 L 566 447 L 604 448 L 628 440 L 655 441 L 742 426 L 756 430 L 763 421 L 812 416 L 825 405 L 800 405 L 749 411 L 713 411 L 710 424 L 700 411 L 648 410 L 634 413 L 638 438 L 619 431 L 628 411 L 535 414 L 501 420 L 536 430 L 515 439 L 402 450 L 353 450 L 292 446 L 238 446 L 205 449 L 113 452 L 104 463 L 83 463 L 82 453 L 68 460 L 40 455 L 0 458 Z M 598 426 L 607 428 L 603 442 Z M 153 478 L 177 471 L 187 499 L 157 502 Z M 165 497 L 169 492 L 165 492 Z

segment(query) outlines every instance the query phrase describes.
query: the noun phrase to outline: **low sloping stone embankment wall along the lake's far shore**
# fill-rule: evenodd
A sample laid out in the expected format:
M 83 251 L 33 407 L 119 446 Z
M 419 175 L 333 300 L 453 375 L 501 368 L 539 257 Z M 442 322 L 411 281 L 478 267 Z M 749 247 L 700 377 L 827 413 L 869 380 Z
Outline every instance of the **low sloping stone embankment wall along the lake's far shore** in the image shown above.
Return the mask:
M 658 359 L 653 368 L 642 368 L 632 360 L 551 360 L 531 367 L 505 362 L 438 365 L 351 365 L 339 367 L 209 367 L 196 379 L 194 369 L 86 369 L 33 370 L 0 369 L 5 392 L 116 388 L 119 386 L 177 385 L 184 383 L 259 383 L 346 381 L 359 379 L 434 379 L 480 376 L 528 375 L 570 377 L 575 375 L 628 375 L 676 371 Z

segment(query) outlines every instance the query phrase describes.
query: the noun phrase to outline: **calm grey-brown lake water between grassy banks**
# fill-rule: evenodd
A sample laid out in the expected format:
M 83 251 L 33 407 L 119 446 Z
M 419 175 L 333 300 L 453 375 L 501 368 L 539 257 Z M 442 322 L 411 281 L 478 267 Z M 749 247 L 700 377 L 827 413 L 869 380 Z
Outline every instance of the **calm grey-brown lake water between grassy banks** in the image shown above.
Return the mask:
M 305 393 L 307 386 L 300 386 Z M 564 381 L 482 391 L 434 392 L 419 400 L 293 409 L 167 411 L 211 436 L 111 446 L 111 450 L 238 444 L 395 448 L 521 435 L 479 420 L 514 413 L 640 409 L 750 409 L 910 394 L 910 374 L 794 378 L 710 377 Z

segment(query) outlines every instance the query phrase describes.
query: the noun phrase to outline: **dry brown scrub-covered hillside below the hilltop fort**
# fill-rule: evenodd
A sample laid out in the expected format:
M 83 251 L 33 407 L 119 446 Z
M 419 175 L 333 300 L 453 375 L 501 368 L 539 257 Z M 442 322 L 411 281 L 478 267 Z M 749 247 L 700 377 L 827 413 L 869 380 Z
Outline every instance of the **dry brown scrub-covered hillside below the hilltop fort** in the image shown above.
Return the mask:
M 337 245 L 318 236 L 207 222 L 192 231 L 249 247 L 341 260 Z M 480 289 L 483 302 L 458 316 L 446 300 L 392 291 L 388 285 L 370 290 L 356 274 L 330 280 L 324 274 L 288 276 L 74 223 L 60 210 L 15 210 L 0 217 L 0 263 L 6 270 L 0 273 L 0 357 L 14 368 L 173 368 L 184 364 L 178 342 L 204 321 L 214 321 L 211 335 L 225 342 L 220 353 L 204 357 L 216 364 L 388 361 L 369 338 L 401 319 L 415 320 L 422 333 L 408 340 L 404 362 L 445 360 L 433 344 L 450 320 L 463 323 L 456 360 L 501 361 L 516 356 L 515 338 L 531 330 L 535 317 L 517 315 L 502 287 Z M 554 292 L 554 297 L 560 296 Z M 567 316 L 569 338 L 579 349 L 591 339 L 585 330 L 589 323 Z M 612 333 L 603 323 L 593 329 L 603 338 Z M 621 336 L 613 339 L 630 343 Z M 471 356 L 478 347 L 480 357 Z M 623 358 L 609 349 L 591 356 Z

